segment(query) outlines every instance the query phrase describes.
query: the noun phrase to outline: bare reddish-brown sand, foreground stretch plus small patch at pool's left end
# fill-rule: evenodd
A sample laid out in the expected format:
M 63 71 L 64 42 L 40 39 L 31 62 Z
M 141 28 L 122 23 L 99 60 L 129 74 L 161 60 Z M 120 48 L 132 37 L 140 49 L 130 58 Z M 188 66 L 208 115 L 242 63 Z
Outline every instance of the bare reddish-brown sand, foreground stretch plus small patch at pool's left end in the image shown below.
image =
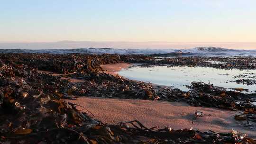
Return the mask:
M 129 63 L 117 63 L 101 66 L 106 72 L 116 75 L 118 71 L 127 68 L 129 65 Z M 138 120 L 148 127 L 163 127 L 164 125 L 173 129 L 193 127 L 201 131 L 213 130 L 217 132 L 231 132 L 234 129 L 256 137 L 254 130 L 239 126 L 239 122 L 234 119 L 234 115 L 238 113 L 237 111 L 191 107 L 184 102 L 141 99 L 83 97 L 68 101 L 88 109 L 95 119 L 108 124 Z M 78 106 L 78 109 L 87 112 L 82 107 Z M 203 112 L 205 117 L 198 117 L 192 124 L 192 118 L 196 110 Z

